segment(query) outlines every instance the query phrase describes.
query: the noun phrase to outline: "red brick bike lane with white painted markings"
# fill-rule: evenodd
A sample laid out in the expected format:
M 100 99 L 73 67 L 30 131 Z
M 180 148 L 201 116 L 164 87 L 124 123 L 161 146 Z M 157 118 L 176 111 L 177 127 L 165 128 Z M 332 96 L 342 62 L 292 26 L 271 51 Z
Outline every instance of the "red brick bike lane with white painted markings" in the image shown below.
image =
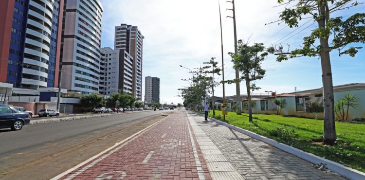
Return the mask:
M 77 167 L 77 166 L 76 166 Z M 211 180 L 185 111 L 60 174 L 61 180 Z

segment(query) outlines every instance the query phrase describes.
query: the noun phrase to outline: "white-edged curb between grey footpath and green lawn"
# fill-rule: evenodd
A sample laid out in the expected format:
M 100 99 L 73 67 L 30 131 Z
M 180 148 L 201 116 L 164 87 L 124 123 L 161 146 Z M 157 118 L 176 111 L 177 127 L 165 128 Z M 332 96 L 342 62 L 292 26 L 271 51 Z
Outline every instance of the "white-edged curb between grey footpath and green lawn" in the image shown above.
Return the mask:
M 195 112 L 195 114 L 203 116 L 203 114 L 201 114 L 201 113 Z M 238 131 L 242 134 L 250 136 L 250 137 L 252 137 L 256 140 L 262 141 L 266 144 L 270 144 L 270 145 L 272 145 L 272 146 L 274 146 L 274 147 L 276 147 L 276 148 L 278 148 L 282 151 L 290 153 L 294 156 L 297 156 L 297 157 L 299 157 L 303 160 L 306 160 L 308 162 L 311 162 L 313 164 L 321 164 L 321 163 L 326 164 L 327 169 L 329 169 L 330 171 L 335 172 L 335 173 L 337 173 L 337 174 L 339 174 L 339 175 L 341 175 L 345 178 L 348 178 L 350 180 L 365 180 L 365 173 L 363 173 L 361 171 L 358 171 L 356 169 L 352 169 L 352 168 L 344 166 L 340 163 L 333 162 L 333 161 L 321 158 L 319 156 L 316 156 L 316 155 L 311 154 L 309 152 L 305 152 L 303 150 L 297 149 L 297 148 L 292 147 L 290 145 L 279 143 L 279 142 L 277 142 L 273 139 L 270 139 L 270 138 L 258 135 L 254 132 L 248 131 L 246 129 L 242 129 L 240 127 L 233 126 L 231 124 L 219 121 L 219 120 L 214 119 L 212 117 L 208 117 L 208 118 L 212 121 L 215 121 L 215 122 L 221 124 L 221 125 L 227 126 L 231 129 L 234 129 L 234 130 L 236 130 L 236 131 Z

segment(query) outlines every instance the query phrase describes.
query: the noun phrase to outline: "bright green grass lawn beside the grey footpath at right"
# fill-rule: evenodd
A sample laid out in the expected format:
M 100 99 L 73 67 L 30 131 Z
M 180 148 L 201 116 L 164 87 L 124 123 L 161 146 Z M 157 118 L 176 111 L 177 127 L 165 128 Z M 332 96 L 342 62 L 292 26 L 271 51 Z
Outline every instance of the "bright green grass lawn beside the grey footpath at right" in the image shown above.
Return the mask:
M 216 110 L 216 119 L 219 115 L 222 120 Z M 212 110 L 209 116 L 213 117 Z M 253 118 L 248 123 L 248 114 L 228 112 L 225 122 L 365 172 L 365 124 L 336 122 L 336 144 L 323 146 L 323 120 L 266 114 Z

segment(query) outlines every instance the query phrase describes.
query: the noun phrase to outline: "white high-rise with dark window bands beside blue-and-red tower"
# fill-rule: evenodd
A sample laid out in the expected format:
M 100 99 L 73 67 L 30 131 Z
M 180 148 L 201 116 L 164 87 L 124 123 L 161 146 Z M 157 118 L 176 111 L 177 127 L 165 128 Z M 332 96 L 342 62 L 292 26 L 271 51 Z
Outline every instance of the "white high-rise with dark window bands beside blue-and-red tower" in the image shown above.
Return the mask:
M 99 0 L 67 0 L 64 8 L 61 88 L 98 93 L 103 7 Z

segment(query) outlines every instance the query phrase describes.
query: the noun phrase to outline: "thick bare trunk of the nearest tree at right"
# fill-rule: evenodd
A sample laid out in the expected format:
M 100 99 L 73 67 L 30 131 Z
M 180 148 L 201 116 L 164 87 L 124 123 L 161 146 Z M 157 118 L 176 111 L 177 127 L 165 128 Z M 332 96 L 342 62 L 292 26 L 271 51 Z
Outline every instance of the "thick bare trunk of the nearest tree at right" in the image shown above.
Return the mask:
M 320 0 L 318 4 L 319 16 L 318 27 L 326 27 L 326 6 L 327 0 Z M 328 37 L 319 38 L 319 42 L 322 46 L 320 52 L 321 67 L 322 67 L 322 84 L 323 84 L 323 102 L 324 102 L 324 132 L 323 132 L 323 144 L 332 145 L 336 141 L 336 128 L 334 120 L 334 99 L 333 99 L 333 84 L 332 84 L 332 71 L 331 63 L 329 59 L 329 43 Z

